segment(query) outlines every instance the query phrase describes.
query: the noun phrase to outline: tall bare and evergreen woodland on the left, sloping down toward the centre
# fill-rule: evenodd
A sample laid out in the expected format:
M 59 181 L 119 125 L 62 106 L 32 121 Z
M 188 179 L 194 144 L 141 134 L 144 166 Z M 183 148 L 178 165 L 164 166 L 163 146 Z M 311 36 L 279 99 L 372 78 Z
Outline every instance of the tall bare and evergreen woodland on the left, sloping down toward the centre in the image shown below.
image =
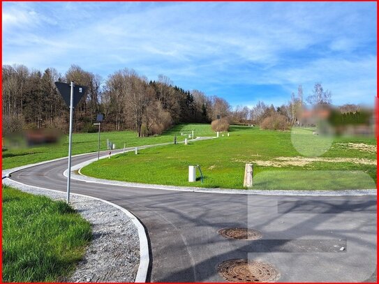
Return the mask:
M 54 82 L 87 86 L 75 108 L 74 131 L 89 132 L 96 114 L 104 114 L 103 130 L 131 129 L 138 136 L 162 133 L 179 122 L 208 123 L 217 115 L 228 116 L 223 98 L 184 90 L 166 76 L 148 81 L 132 69 L 114 72 L 106 79 L 80 66 L 62 75 L 54 68 L 43 73 L 26 66 L 3 66 L 3 133 L 22 128 L 58 128 L 67 131 L 68 107 Z

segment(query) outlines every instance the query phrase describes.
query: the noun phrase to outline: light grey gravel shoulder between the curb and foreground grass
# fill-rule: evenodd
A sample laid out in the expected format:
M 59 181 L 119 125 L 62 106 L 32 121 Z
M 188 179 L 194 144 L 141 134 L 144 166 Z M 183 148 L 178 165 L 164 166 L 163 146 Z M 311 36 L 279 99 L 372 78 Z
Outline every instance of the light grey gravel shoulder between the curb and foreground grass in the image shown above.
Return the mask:
M 18 184 L 3 184 L 24 192 L 64 200 L 66 193 Z M 72 195 L 70 204 L 92 227 L 92 241 L 73 275 L 64 282 L 134 282 L 140 264 L 138 229 L 131 218 L 110 204 L 90 197 Z

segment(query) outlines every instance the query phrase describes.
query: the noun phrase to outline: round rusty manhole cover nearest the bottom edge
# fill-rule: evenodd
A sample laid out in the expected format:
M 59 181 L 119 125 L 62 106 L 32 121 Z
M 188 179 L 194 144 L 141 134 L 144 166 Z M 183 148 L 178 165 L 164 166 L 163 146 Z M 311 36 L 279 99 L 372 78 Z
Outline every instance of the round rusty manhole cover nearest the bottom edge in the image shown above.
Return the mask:
M 221 262 L 217 272 L 230 282 L 275 282 L 281 276 L 272 264 L 247 260 Z

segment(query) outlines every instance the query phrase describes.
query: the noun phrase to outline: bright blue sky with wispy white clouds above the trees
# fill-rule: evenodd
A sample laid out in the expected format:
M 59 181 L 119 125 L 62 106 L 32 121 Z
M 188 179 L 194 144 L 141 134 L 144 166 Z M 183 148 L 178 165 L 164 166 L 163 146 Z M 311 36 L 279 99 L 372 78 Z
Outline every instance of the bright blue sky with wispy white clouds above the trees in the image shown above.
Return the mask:
M 133 68 L 233 106 L 278 106 L 315 82 L 336 105 L 376 97 L 374 2 L 2 4 L 3 64 Z

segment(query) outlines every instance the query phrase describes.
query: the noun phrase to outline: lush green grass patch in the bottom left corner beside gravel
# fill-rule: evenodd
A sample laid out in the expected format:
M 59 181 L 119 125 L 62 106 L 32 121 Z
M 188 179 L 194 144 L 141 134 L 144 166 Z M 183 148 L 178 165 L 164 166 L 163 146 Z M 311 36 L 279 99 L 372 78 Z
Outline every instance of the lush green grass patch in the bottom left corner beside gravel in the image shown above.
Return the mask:
M 73 271 L 91 225 L 63 201 L 3 186 L 3 282 L 57 282 Z

